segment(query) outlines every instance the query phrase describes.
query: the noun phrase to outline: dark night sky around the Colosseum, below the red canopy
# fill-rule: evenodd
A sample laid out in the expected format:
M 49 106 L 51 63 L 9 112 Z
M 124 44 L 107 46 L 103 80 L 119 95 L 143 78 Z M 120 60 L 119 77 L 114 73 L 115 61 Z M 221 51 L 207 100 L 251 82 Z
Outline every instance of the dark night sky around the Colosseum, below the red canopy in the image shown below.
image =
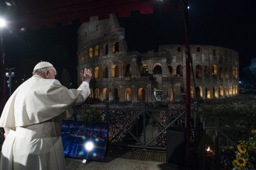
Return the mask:
M 227 47 L 239 53 L 240 70 L 256 57 L 256 2 L 253 0 L 191 0 L 189 2 L 190 44 Z M 118 18 L 125 28 L 130 51 L 145 53 L 160 44 L 185 44 L 183 12 L 154 14 L 135 11 L 130 17 Z M 77 30 L 78 21 L 70 26 L 7 35 L 6 68 L 16 68 L 13 87 L 31 77 L 33 67 L 41 61 L 52 63 L 61 77 L 62 69 L 69 71 L 73 88 L 77 87 Z M 243 75 L 240 75 L 242 79 Z M 17 82 L 16 82 L 17 81 Z

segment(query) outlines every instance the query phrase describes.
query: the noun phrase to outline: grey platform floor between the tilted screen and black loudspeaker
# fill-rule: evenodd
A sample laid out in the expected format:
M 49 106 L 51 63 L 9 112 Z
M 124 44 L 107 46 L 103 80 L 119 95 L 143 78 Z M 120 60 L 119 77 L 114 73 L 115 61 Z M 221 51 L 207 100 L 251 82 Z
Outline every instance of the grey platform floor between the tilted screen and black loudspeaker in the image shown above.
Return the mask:
M 166 152 L 111 147 L 104 162 L 66 158 L 66 170 L 178 170 L 166 162 Z

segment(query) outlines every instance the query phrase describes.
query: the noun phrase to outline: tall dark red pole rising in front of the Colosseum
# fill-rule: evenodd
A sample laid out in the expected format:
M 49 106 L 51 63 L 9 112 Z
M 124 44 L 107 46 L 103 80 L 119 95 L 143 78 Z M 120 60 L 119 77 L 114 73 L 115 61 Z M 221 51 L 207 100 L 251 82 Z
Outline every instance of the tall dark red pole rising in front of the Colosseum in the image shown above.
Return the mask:
M 190 160 L 190 57 L 189 57 L 189 43 L 188 43 L 188 12 L 187 0 L 183 0 L 183 14 L 185 21 L 185 52 L 186 52 L 186 156 L 187 167 L 189 167 Z

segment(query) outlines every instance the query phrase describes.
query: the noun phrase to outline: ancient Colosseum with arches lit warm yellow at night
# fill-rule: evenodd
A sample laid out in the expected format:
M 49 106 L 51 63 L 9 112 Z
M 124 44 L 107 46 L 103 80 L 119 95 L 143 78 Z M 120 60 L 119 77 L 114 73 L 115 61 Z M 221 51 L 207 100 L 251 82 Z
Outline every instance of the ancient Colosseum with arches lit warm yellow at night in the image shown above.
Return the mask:
M 238 53 L 209 45 L 190 45 L 191 98 L 238 95 Z M 115 15 L 91 17 L 78 29 L 78 67 L 92 72 L 90 98 L 109 102 L 179 101 L 185 97 L 185 45 L 160 45 L 159 51 L 128 51 L 124 28 Z M 192 79 L 195 79 L 194 88 Z M 78 74 L 78 83 L 81 77 Z

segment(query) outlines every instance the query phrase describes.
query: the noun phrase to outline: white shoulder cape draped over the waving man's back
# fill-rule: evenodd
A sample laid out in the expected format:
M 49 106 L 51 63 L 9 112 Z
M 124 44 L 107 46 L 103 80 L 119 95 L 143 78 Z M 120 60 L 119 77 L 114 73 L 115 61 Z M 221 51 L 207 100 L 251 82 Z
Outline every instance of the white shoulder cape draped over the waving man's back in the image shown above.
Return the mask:
M 67 89 L 56 79 L 33 76 L 21 84 L 7 101 L 0 118 L 0 127 L 47 121 L 65 112 L 78 96 L 78 90 Z

